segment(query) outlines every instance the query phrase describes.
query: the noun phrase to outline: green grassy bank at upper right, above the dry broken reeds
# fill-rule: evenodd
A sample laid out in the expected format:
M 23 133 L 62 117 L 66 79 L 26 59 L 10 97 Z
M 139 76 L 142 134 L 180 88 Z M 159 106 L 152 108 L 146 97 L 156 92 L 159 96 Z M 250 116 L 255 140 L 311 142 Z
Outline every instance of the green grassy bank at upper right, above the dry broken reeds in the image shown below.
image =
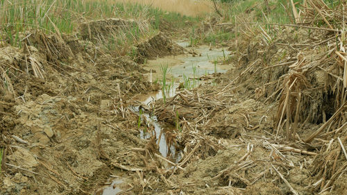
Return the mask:
M 324 2 L 325 4 L 323 5 L 323 3 L 319 2 Z M 295 9 L 293 9 L 291 1 L 287 0 L 230 0 L 217 3 L 217 10 L 221 13 L 221 16 L 216 17 L 218 28 L 210 32 L 210 28 L 208 28 L 205 33 L 196 35 L 194 38 L 196 42 L 215 45 L 225 44 L 244 33 L 248 34 L 253 30 L 257 31 L 259 26 L 262 26 L 266 33 L 271 33 L 273 25 L 269 25 L 269 23 L 325 26 L 325 22 L 321 17 L 308 20 L 303 18 L 303 15 L 310 15 L 307 13 L 307 4 L 303 0 L 294 0 L 293 3 Z M 327 9 L 326 19 L 330 20 L 332 25 L 338 23 L 337 26 L 341 28 L 339 22 L 332 21 L 334 15 L 336 15 L 334 10 L 336 10 L 341 2 L 322 0 L 317 1 L 317 3 L 330 9 Z M 297 18 L 295 17 L 294 10 L 296 10 Z M 310 12 L 314 12 L 314 9 L 310 10 Z M 242 28 L 246 28 L 246 31 L 239 31 Z

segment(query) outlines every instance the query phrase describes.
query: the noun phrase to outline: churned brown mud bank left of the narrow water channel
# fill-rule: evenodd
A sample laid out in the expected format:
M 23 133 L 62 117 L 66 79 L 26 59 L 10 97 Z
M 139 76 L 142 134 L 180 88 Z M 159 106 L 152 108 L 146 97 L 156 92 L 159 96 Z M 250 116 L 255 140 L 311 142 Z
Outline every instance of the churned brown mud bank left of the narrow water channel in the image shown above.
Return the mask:
M 126 177 L 112 164 L 144 167 L 128 151 L 146 144 L 128 105 L 159 89 L 147 71 L 72 35 L 28 40 L 0 48 L 0 194 L 92 194 L 113 171 Z

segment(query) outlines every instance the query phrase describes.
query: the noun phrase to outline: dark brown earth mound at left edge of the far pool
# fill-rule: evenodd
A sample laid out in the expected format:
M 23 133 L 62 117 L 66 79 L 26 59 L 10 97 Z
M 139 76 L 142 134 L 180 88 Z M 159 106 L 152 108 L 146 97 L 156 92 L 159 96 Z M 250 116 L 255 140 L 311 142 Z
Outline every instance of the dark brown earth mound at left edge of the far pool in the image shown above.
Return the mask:
M 185 49 L 178 44 L 171 42 L 164 33 L 158 33 L 149 40 L 137 45 L 136 62 L 143 63 L 144 59 L 154 59 L 158 56 L 178 55 L 184 53 Z

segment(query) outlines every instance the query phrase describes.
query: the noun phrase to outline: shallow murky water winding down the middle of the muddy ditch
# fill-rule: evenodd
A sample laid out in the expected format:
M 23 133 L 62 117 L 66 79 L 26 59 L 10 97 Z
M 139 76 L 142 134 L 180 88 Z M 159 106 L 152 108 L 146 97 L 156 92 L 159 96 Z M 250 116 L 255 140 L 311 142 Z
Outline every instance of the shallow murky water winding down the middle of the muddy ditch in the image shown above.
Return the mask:
M 180 46 L 187 47 L 189 46 L 188 42 L 178 42 Z M 196 55 L 185 54 L 180 56 L 167 56 L 165 58 L 158 58 L 156 60 L 149 60 L 146 64 L 146 69 L 154 70 L 153 73 L 149 75 L 150 80 L 158 80 L 162 78 L 162 73 L 160 71 L 160 65 L 168 65 L 169 73 L 168 77 L 175 80 L 174 87 L 171 87 L 170 90 L 167 90 L 167 98 L 172 97 L 176 94 L 176 88 L 180 82 L 183 82 L 183 75 L 188 78 L 199 78 L 205 74 L 212 74 L 215 72 L 224 73 L 230 69 L 228 65 L 215 65 L 214 60 L 223 60 L 227 58 L 229 52 L 226 49 L 212 49 L 210 50 L 209 46 L 198 46 L 193 49 Z M 195 67 L 195 70 L 194 68 Z M 139 101 L 142 105 L 151 105 L 154 101 L 162 99 L 162 91 L 153 92 L 149 94 L 140 94 L 135 96 L 134 100 Z M 149 107 L 150 108 L 150 107 Z M 162 126 L 157 117 L 151 116 L 149 112 L 141 111 L 139 106 L 130 106 L 130 110 L 137 113 L 142 120 L 146 120 L 147 124 L 153 126 L 153 130 L 140 130 L 139 137 L 141 139 L 149 139 L 151 136 L 155 135 L 157 144 L 159 146 L 160 154 L 171 160 L 171 162 L 179 162 L 182 157 L 182 151 L 176 148 L 174 145 L 167 144 L 167 133 L 173 132 L 176 130 L 173 126 Z M 172 166 L 168 164 L 167 169 L 171 169 Z M 124 184 L 124 180 L 115 179 L 112 180 L 112 184 L 108 187 L 105 187 L 99 191 L 98 194 L 111 195 L 118 194 L 122 191 L 121 186 Z

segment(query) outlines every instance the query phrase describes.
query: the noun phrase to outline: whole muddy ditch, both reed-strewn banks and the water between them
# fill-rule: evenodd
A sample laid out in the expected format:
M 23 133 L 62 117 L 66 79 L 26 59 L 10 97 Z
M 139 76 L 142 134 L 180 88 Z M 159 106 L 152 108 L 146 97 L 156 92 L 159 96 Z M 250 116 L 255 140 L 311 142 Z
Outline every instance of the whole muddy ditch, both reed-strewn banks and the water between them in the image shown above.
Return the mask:
M 341 83 L 312 69 L 321 56 L 309 62 L 303 55 L 312 51 L 256 36 L 228 51 L 163 33 L 135 46 L 137 58 L 112 56 L 92 38 L 107 37 L 109 22 L 119 24 L 83 24 L 94 27 L 81 40 L 33 32 L 24 49 L 0 48 L 0 194 L 316 194 L 330 179 L 321 194 L 346 194 L 337 137 L 301 141 L 336 112 L 325 102 L 346 97 L 333 90 Z M 278 42 L 307 33 L 281 31 Z M 164 88 L 163 64 L 172 82 Z M 198 85 L 187 89 L 186 80 Z M 300 84 L 287 94 L 302 92 L 302 104 L 287 98 L 289 82 Z M 290 126 L 296 142 L 278 117 L 286 102 L 302 105 L 300 115 L 297 106 L 286 112 L 298 123 Z M 330 126 L 342 143 L 346 116 Z

